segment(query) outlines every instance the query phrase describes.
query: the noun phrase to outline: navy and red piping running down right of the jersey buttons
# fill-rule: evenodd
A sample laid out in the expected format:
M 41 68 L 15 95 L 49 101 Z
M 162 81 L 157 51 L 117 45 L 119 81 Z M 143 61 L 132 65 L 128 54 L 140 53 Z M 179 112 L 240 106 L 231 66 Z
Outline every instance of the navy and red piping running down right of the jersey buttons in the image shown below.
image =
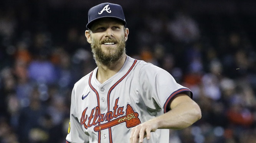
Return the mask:
M 109 92 L 107 93 L 107 112 L 110 111 L 110 94 L 112 92 L 112 90 L 130 73 L 130 71 L 132 70 L 132 68 L 135 66 L 135 64 L 137 63 L 137 59 L 134 60 L 132 66 L 130 67 L 130 69 L 126 72 L 126 74 L 121 78 L 119 79 L 110 89 L 109 89 Z M 110 119 L 109 119 L 110 121 Z M 111 131 L 111 128 L 109 128 L 109 143 L 113 143 L 113 140 L 112 140 L 112 131 Z

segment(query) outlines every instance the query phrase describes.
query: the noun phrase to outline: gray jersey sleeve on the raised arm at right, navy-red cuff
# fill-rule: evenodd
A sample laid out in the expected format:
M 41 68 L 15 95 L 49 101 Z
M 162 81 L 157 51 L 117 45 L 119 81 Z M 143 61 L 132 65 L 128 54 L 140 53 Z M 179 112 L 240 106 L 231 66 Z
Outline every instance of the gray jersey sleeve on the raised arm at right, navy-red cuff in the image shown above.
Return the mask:
M 145 64 L 140 69 L 139 85 L 144 103 L 151 109 L 161 108 L 167 112 L 168 102 L 181 92 L 192 98 L 190 89 L 178 84 L 170 73 L 153 64 Z

